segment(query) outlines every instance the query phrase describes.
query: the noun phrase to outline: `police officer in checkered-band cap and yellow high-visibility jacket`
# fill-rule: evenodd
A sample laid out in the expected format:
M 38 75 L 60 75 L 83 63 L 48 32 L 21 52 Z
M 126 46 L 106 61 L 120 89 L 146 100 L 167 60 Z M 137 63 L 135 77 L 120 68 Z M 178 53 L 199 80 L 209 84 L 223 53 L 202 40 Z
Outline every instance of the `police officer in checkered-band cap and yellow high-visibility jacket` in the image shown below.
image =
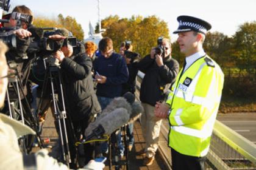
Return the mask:
M 155 115 L 171 124 L 169 146 L 172 169 L 204 169 L 224 75 L 202 47 L 211 25 L 192 16 L 179 16 L 177 42 L 185 64 L 166 103 L 155 105 Z

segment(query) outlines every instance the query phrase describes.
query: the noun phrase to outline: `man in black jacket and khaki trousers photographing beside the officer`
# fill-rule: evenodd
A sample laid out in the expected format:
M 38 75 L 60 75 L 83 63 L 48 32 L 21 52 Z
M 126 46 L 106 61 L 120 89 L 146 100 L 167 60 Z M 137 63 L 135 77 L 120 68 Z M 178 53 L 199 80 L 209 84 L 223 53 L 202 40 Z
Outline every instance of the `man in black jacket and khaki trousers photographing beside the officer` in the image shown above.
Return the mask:
M 155 49 L 138 63 L 139 69 L 145 73 L 140 89 L 140 100 L 144 107 L 141 116 L 141 126 L 146 148 L 140 151 L 145 155 L 144 165 L 152 165 L 155 152 L 158 148 L 158 137 L 162 119 L 154 115 L 154 106 L 157 101 L 165 100 L 165 92 L 176 80 L 179 72 L 179 63 L 171 57 L 171 42 L 164 38 L 161 44 L 165 48 L 164 56 L 158 55 Z

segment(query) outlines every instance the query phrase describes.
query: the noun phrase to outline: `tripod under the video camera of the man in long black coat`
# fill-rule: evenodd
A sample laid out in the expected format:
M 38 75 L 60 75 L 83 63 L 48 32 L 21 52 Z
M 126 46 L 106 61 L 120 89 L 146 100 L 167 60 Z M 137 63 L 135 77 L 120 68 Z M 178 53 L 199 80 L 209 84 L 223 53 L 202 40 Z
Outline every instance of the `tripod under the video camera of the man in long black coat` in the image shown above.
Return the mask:
M 66 130 L 66 118 L 67 118 L 66 107 L 65 107 L 64 95 L 63 95 L 62 77 L 61 77 L 59 67 L 50 65 L 46 69 L 46 73 L 44 75 L 43 90 L 41 92 L 41 98 L 38 106 L 38 114 L 44 113 L 44 110 L 48 109 L 48 108 L 43 108 L 42 105 L 43 105 L 43 98 L 45 95 L 47 95 L 47 88 L 49 83 L 51 85 L 50 94 L 51 94 L 51 101 L 54 107 L 53 111 L 55 115 L 55 120 L 57 121 L 57 126 L 59 127 L 58 134 L 59 134 L 60 145 L 62 149 L 62 159 L 63 159 L 63 163 L 69 166 L 69 163 L 71 163 L 71 157 L 69 152 L 68 134 Z

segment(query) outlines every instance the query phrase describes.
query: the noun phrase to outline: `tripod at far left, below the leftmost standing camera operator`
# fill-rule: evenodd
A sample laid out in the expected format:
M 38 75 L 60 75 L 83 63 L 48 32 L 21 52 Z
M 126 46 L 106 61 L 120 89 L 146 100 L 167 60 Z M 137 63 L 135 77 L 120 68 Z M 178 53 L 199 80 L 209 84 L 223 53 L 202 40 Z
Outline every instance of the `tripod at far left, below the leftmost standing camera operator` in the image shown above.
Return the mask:
M 9 107 L 9 115 L 10 115 L 10 118 L 15 118 L 17 120 L 21 119 L 21 123 L 27 124 L 28 126 L 32 127 L 32 129 L 37 134 L 38 144 L 39 144 L 40 148 L 42 148 L 41 138 L 40 138 L 39 132 L 37 130 L 37 123 L 32 115 L 29 102 L 27 101 L 27 98 L 25 97 L 25 94 L 24 94 L 24 91 L 22 88 L 23 88 L 23 86 L 21 84 L 19 75 L 15 75 L 15 77 L 9 78 L 9 84 L 8 84 L 8 89 L 7 89 L 7 103 L 8 103 L 8 107 Z M 10 94 L 9 94 L 10 89 L 14 90 L 14 92 L 15 92 L 14 94 L 16 95 L 16 97 L 18 97 L 18 99 L 15 99 L 15 100 L 12 99 L 12 101 L 11 101 Z M 21 94 L 20 94 L 20 92 L 21 92 Z M 23 100 L 21 100 L 21 95 L 23 96 Z M 15 104 L 15 103 L 17 103 L 17 104 Z M 32 141 L 31 139 L 29 139 L 29 137 L 25 137 L 25 136 L 21 137 L 19 140 L 21 150 L 25 154 L 30 152 L 32 149 L 32 142 L 29 142 L 29 140 Z M 27 144 L 26 144 L 26 142 L 27 142 Z

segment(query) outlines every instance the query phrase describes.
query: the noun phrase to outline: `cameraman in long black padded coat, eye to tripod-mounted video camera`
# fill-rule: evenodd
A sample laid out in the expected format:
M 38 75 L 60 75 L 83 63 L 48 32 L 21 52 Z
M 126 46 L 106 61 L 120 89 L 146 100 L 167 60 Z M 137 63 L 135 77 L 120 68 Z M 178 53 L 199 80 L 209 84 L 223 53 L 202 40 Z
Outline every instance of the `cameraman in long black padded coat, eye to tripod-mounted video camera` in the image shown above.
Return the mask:
M 56 34 L 68 36 L 68 30 L 56 30 Z M 63 84 L 66 92 L 66 103 L 73 121 L 77 138 L 82 139 L 88 124 L 94 120 L 94 115 L 101 112 L 101 106 L 93 89 L 91 77 L 91 58 L 85 55 L 84 45 L 80 44 L 80 52 L 73 53 L 69 44 L 55 52 L 54 57 L 60 61 Z M 92 158 L 93 146 L 85 144 L 85 164 Z

